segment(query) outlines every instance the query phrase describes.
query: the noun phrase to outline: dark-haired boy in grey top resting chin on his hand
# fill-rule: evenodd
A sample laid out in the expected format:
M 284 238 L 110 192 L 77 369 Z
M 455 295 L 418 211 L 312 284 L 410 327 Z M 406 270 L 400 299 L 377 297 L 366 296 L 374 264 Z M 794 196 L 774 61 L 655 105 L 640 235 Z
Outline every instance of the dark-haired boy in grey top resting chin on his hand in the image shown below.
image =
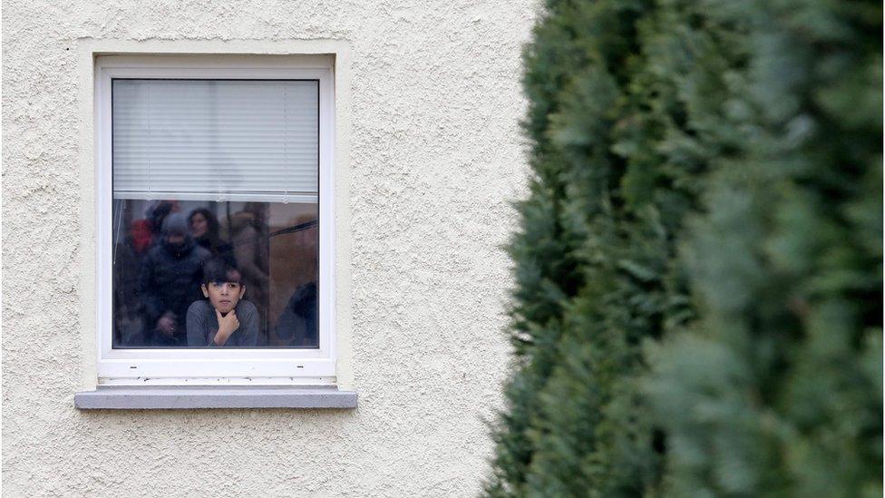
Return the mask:
M 223 258 L 203 267 L 203 297 L 188 308 L 188 346 L 255 347 L 258 309 L 244 299 L 246 286 L 239 270 Z

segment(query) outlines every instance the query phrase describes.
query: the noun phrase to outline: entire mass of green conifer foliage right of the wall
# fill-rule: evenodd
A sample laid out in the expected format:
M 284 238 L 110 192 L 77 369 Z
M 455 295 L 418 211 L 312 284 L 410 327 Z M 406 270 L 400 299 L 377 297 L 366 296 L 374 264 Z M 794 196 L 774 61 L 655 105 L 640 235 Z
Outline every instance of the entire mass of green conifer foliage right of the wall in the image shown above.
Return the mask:
M 881 5 L 549 1 L 489 496 L 881 493 Z

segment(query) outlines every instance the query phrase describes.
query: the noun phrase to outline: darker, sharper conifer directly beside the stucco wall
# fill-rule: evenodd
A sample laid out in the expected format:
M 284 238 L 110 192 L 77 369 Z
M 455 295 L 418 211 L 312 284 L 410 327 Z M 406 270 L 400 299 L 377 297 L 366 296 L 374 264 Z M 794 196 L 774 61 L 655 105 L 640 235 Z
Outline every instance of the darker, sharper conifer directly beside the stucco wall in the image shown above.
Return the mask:
M 549 2 L 526 52 L 535 174 L 511 244 L 516 371 L 488 495 L 635 496 L 660 472 L 641 345 L 691 317 L 674 262 L 705 161 L 673 77 L 695 49 L 642 49 L 657 10 Z

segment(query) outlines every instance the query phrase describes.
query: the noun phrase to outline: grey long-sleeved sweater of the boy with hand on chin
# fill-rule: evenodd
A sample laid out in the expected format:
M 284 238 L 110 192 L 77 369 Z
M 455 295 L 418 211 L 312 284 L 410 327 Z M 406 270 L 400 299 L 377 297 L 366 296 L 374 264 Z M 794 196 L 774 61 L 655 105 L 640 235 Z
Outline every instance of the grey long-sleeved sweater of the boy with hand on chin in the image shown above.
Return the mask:
M 258 309 L 243 299 L 237 303 L 239 327 L 228 337 L 225 347 L 258 346 Z M 207 347 L 215 345 L 215 334 L 219 331 L 219 320 L 215 308 L 208 300 L 194 301 L 188 308 L 188 346 Z

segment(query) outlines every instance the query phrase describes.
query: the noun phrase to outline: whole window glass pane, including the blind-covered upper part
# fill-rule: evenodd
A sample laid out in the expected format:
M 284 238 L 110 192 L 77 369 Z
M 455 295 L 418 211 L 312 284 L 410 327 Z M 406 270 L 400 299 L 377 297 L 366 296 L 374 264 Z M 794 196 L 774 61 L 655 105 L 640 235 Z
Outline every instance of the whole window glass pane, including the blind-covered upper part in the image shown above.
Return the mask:
M 113 347 L 318 347 L 316 81 L 112 103 Z

